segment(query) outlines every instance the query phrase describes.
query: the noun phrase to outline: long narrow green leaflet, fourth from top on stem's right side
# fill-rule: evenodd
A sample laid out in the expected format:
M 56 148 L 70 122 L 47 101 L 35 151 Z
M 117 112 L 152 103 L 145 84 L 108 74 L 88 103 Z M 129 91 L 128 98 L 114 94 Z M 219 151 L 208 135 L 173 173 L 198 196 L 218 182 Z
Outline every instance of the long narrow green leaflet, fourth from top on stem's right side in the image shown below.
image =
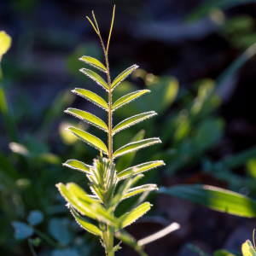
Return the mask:
M 141 140 L 141 141 L 138 141 L 135 143 L 128 143 L 125 146 L 116 150 L 113 153 L 113 158 L 119 157 L 120 155 L 127 154 L 127 153 L 130 153 L 132 151 L 135 151 L 135 150 L 138 150 L 141 148 L 145 148 L 145 147 L 154 145 L 156 143 L 161 143 L 160 138 L 153 137 L 153 138 L 144 139 L 144 140 Z

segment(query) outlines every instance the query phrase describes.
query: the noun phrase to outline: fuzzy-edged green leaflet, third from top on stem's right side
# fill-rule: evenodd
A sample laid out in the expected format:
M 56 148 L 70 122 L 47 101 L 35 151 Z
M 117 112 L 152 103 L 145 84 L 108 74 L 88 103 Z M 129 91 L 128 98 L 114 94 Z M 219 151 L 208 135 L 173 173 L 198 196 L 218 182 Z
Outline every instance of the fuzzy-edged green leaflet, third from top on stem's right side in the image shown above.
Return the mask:
M 125 120 L 121 121 L 118 125 L 113 127 L 113 134 L 126 129 L 126 128 L 130 127 L 131 125 L 136 125 L 145 119 L 149 119 L 149 118 L 153 117 L 154 115 L 157 115 L 157 113 L 155 113 L 154 111 L 149 111 L 146 113 L 139 113 L 137 115 L 131 116 L 131 118 L 125 119 Z

